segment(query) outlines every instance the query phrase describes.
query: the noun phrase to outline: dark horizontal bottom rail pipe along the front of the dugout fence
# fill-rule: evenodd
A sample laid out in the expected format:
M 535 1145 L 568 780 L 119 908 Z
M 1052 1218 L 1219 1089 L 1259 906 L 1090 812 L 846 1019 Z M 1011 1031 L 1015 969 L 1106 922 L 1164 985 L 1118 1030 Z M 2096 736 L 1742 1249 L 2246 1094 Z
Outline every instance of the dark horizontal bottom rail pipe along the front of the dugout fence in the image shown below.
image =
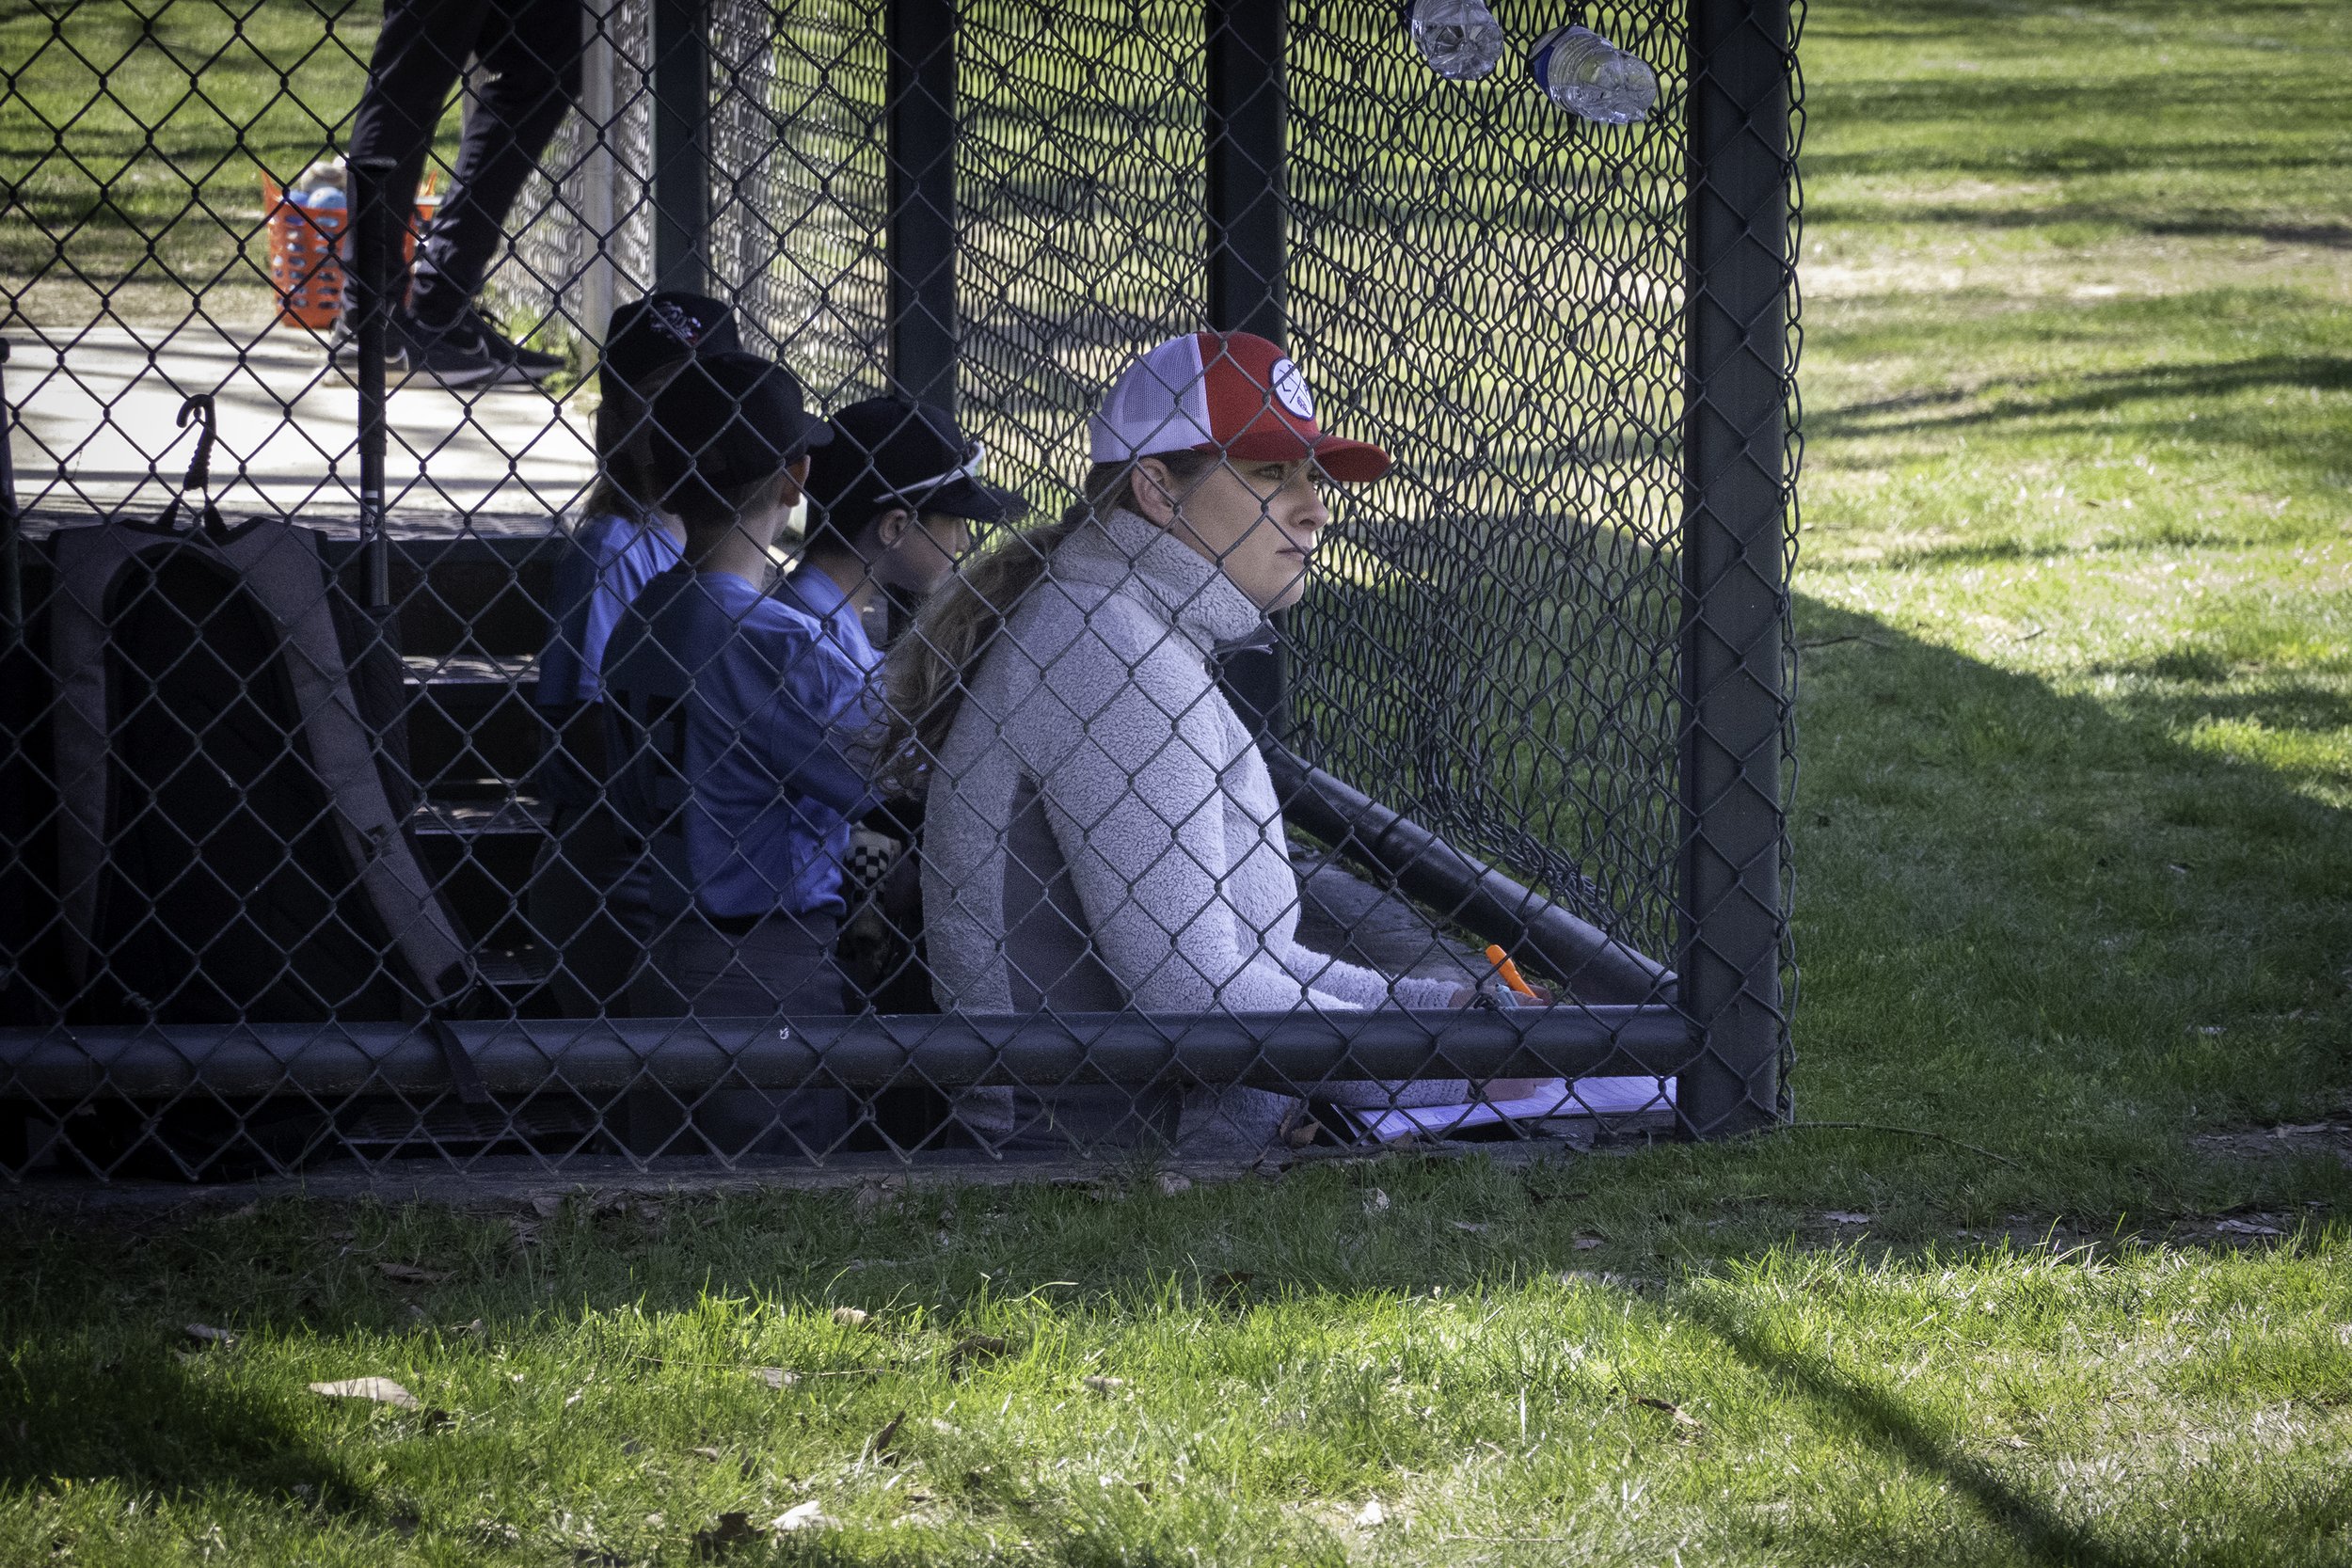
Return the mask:
M 1675 1077 L 1703 1053 L 1672 1006 L 1359 1018 L 1073 1013 L 630 1018 L 449 1025 L 501 1095 L 729 1086 L 1256 1084 Z M 0 1030 L 0 1100 L 452 1091 L 430 1025 L 120 1025 Z

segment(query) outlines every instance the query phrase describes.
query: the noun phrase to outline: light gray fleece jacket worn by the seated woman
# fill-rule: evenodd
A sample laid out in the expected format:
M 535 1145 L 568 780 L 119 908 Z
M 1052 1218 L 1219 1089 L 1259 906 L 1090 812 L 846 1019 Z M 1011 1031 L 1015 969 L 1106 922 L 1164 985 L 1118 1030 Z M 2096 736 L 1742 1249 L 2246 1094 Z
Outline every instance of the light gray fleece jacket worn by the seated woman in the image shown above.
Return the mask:
M 1223 571 L 1143 517 L 1063 541 L 967 682 L 931 778 L 922 907 L 941 1006 L 1446 1006 L 1449 980 L 1390 980 L 1296 940 L 1282 809 L 1211 672 L 1221 644 L 1261 630 Z M 1214 1110 L 1249 1140 L 1289 1105 L 1228 1091 Z M 1188 1145 L 1204 1110 L 1185 1107 Z

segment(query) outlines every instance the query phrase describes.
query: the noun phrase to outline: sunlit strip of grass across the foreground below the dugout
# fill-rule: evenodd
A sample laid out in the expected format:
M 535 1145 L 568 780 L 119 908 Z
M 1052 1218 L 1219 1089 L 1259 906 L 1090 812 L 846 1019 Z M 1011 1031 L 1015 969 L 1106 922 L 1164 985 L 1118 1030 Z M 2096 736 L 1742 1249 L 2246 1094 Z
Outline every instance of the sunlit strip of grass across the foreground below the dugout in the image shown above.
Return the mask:
M 1435 1204 L 1454 1232 L 1449 1197 L 1383 1213 Z M 1350 1182 L 1294 1199 L 1324 1225 L 1364 1215 Z M 1225 1194 L 1096 1208 L 1164 1260 L 1211 1241 Z M 78 1418 L 42 1420 L 21 1450 L 0 1549 L 694 1561 L 729 1514 L 750 1530 L 729 1552 L 743 1561 L 1136 1561 L 1188 1542 L 1242 1563 L 1512 1544 L 2042 1561 L 2051 1540 L 2138 1552 L 2183 1526 L 2232 1549 L 2326 1537 L 2343 1497 L 2319 1476 L 2352 1439 L 2338 1234 L 1882 1253 L 1851 1241 L 1870 1215 L 1837 1218 L 1846 1244 L 1696 1272 L 1428 1251 L 1338 1286 L 1244 1251 L 1261 1272 L 1103 1276 L 1068 1258 L 1089 1284 L 1049 1288 L 1037 1276 L 1065 1258 L 1014 1281 L 920 1265 L 863 1321 L 757 1272 L 574 1300 L 583 1248 L 553 1260 L 567 1305 L 532 1307 L 487 1267 L 423 1291 L 407 1326 L 256 1316 L 233 1345 L 191 1347 L 169 1316 L 235 1281 L 198 1262 L 129 1333 L 19 1347 L 9 1415 L 71 1396 Z M 673 1201 L 652 1255 L 713 1262 L 781 1239 L 779 1220 Z M 280 1206 L 198 1227 L 186 1255 L 308 1222 Z M 463 1227 L 423 1229 L 463 1248 Z M 397 1211 L 353 1234 L 421 1239 Z M 308 1392 L 362 1373 L 419 1406 Z M 2232 1514 L 2220 1476 L 2300 1516 Z M 776 1523 L 807 1505 L 821 1523 Z

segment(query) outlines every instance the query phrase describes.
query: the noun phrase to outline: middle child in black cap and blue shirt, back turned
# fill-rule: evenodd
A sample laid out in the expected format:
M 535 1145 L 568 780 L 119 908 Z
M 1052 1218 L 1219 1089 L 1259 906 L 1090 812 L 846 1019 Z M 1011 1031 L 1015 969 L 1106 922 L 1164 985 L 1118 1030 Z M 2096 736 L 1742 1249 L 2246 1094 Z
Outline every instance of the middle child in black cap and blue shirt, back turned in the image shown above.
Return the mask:
M 833 964 L 849 823 L 875 802 L 856 733 L 870 649 L 854 618 L 769 595 L 809 451 L 833 440 L 790 369 L 696 355 L 652 400 L 652 477 L 684 559 L 604 649 L 623 818 L 647 844 L 654 940 L 640 1018 L 844 1011 Z M 694 1110 L 722 1154 L 835 1147 L 842 1091 L 724 1091 Z

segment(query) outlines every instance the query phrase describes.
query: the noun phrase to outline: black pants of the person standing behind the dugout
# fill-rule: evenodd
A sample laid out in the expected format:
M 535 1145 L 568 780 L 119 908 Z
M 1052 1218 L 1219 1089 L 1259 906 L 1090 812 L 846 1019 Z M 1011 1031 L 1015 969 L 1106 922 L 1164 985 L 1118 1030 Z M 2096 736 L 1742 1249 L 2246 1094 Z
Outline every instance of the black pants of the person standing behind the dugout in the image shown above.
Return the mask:
M 447 322 L 482 292 L 522 181 L 579 96 L 581 26 L 581 0 L 386 0 L 350 155 L 393 162 L 393 212 L 414 207 L 449 89 L 468 56 L 480 63 L 456 172 L 416 247 L 416 320 Z

